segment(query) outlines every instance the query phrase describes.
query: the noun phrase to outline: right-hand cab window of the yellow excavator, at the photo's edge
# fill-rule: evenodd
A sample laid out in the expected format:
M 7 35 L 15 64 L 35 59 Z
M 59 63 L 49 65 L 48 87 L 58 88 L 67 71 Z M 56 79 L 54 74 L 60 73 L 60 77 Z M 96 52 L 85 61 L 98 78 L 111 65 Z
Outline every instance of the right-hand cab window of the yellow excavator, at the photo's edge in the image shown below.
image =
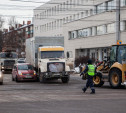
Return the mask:
M 126 46 L 118 47 L 118 57 L 117 60 L 122 64 L 122 60 L 126 60 Z

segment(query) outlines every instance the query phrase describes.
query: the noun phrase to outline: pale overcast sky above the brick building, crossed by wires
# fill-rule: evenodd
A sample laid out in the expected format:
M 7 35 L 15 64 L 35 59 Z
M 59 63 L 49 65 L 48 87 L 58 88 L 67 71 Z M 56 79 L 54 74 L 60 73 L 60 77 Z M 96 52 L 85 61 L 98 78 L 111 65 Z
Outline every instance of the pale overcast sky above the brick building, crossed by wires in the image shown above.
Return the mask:
M 50 0 L 0 0 L 0 15 L 2 15 L 6 23 L 5 28 L 8 27 L 8 18 L 15 16 L 19 23 L 23 23 L 23 20 L 31 20 L 33 17 L 33 9 L 48 2 Z M 25 1 L 25 2 L 23 2 Z M 29 1 L 29 2 L 26 2 Z M 33 2 L 30 2 L 33 1 Z M 42 3 L 35 3 L 42 2 Z M 26 22 L 25 22 L 26 23 Z

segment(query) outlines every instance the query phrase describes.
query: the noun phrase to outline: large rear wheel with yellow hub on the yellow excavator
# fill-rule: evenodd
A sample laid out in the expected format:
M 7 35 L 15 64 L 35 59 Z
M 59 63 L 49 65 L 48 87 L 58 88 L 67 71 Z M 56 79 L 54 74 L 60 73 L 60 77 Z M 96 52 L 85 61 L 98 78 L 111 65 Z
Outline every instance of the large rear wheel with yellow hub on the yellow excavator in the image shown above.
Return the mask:
M 118 69 L 113 69 L 109 75 L 109 83 L 112 88 L 119 88 L 122 81 L 122 73 Z

